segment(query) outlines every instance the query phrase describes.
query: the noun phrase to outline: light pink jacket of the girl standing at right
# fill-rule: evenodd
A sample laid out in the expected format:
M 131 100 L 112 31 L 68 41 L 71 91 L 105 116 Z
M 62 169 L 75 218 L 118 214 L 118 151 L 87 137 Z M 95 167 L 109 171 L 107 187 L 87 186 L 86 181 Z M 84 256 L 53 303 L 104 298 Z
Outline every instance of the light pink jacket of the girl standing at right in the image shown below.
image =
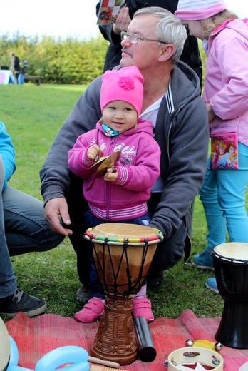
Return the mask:
M 232 19 L 208 40 L 203 98 L 216 116 L 212 128 L 238 128 L 248 146 L 248 19 Z

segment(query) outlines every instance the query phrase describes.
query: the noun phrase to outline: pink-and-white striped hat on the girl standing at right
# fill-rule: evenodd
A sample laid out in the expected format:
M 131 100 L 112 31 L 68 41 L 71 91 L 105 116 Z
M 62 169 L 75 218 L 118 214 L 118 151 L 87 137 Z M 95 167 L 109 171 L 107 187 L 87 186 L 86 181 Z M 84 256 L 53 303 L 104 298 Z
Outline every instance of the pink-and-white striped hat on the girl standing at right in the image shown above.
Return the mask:
M 181 21 L 201 21 L 226 9 L 224 0 L 179 0 L 175 16 Z

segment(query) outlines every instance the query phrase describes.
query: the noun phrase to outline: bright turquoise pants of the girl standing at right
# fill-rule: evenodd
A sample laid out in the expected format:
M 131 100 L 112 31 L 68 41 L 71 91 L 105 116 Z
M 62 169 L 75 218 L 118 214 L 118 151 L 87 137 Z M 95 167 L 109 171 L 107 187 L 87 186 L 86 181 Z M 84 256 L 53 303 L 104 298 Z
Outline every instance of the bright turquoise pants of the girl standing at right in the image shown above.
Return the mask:
M 239 143 L 239 169 L 210 170 L 207 164 L 205 181 L 200 190 L 207 220 L 207 252 L 220 243 L 248 243 L 248 216 L 245 195 L 248 182 L 248 146 Z

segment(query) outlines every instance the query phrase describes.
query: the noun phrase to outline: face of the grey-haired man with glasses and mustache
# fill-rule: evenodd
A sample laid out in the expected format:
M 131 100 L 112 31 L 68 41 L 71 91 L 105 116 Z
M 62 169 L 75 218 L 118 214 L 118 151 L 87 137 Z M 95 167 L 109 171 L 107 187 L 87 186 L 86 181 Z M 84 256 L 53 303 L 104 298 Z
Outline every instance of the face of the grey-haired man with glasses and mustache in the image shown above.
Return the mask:
M 148 37 L 157 40 L 157 17 L 143 14 L 135 17 L 128 27 L 128 34 Z M 129 37 L 121 42 L 123 46 L 121 67 L 136 66 L 142 72 L 145 68 L 151 68 L 157 63 L 161 45 L 155 41 L 139 40 L 138 44 L 131 44 Z

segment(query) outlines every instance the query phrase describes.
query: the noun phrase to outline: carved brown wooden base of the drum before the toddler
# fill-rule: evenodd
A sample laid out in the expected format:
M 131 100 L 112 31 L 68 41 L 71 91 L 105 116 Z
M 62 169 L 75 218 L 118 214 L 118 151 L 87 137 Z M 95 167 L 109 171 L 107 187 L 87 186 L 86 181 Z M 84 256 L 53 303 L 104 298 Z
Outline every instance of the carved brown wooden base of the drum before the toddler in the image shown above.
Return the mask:
M 93 342 L 91 354 L 101 360 L 130 365 L 137 357 L 138 345 L 132 317 L 133 298 L 108 294 L 104 314 Z

